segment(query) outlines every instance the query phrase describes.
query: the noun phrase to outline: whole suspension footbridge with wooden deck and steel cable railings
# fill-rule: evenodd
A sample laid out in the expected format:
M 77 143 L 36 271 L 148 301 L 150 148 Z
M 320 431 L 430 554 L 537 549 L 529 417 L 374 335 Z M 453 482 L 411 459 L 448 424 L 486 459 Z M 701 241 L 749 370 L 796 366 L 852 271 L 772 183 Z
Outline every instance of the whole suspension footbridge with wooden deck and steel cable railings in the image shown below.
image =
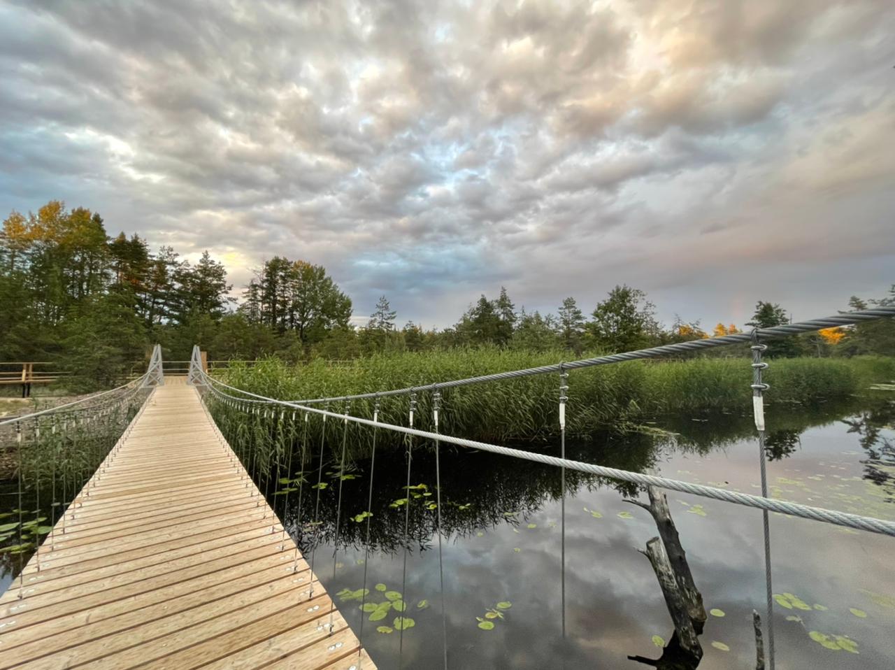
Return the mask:
M 665 513 L 662 511 L 663 499 L 656 493 L 658 489 L 760 509 L 763 511 L 767 602 L 763 604 L 766 606 L 763 623 L 755 614 L 755 631 L 759 666 L 764 667 L 766 656 L 767 667 L 772 669 L 774 638 L 768 513 L 773 511 L 890 537 L 895 537 L 895 523 L 790 503 L 768 494 L 763 444 L 763 393 L 768 386 L 762 379 L 767 367 L 762 360 L 763 342 L 893 316 L 895 307 L 880 307 L 752 333 L 501 374 L 351 396 L 297 400 L 268 398 L 227 384 L 208 374 L 198 348 L 193 350 L 187 377 L 165 375 L 161 350 L 157 346 L 148 372 L 133 382 L 57 408 L 0 422 L 0 430 L 14 431 L 18 444 L 19 504 L 16 512 L 20 542 L 24 542 L 21 537 L 26 530 L 43 537 L 29 563 L 0 598 L 0 670 L 81 666 L 374 668 L 375 659 L 368 657 L 362 645 L 363 629 L 353 631 L 346 623 L 318 580 L 313 569 L 313 554 L 310 562 L 306 561 L 291 537 L 297 529 L 286 528 L 268 505 L 265 492 L 260 488 L 260 477 L 255 472 L 258 455 L 231 449 L 217 427 L 212 417 L 220 408 L 234 410 L 245 417 L 246 422 L 250 417 L 256 424 L 269 421 L 269 425 L 262 425 L 270 434 L 284 422 L 307 425 L 311 417 L 344 426 L 339 444 L 332 449 L 339 463 L 336 473 L 339 482 L 337 539 L 343 515 L 341 482 L 346 473 L 345 442 L 349 423 L 374 431 L 371 459 L 376 457 L 377 432 L 385 430 L 407 436 L 407 489 L 412 488 L 413 440 L 430 442 L 435 453 L 436 482 L 432 502 L 428 504 L 437 517 L 442 617 L 442 636 L 438 643 L 443 649 L 446 668 L 450 663 L 441 562 L 440 444 L 490 451 L 559 468 L 563 473 L 560 492 L 563 502 L 566 498 L 565 473 L 576 470 L 646 487 L 657 520 Z M 744 383 L 751 387 L 754 395 L 761 495 L 566 458 L 566 402 L 570 373 L 626 360 L 736 344 L 747 345 L 753 355 L 752 373 Z M 443 391 L 536 374 L 557 375 L 554 399 L 562 445 L 558 457 L 473 441 L 439 430 Z M 418 404 L 422 404 L 421 396 L 425 397 L 425 408 L 430 414 L 426 424 L 429 430 L 421 428 L 422 408 Z M 407 400 L 408 414 L 404 425 L 386 423 L 379 414 L 380 402 L 396 397 Z M 355 408 L 361 408 L 352 412 L 352 402 L 357 403 Z M 340 405 L 341 411 L 330 411 L 334 403 Z M 368 415 L 361 416 L 364 412 Z M 113 428 L 117 431 L 114 442 L 104 445 L 101 440 L 91 441 L 103 426 L 114 426 L 115 422 L 120 425 L 120 430 Z M 81 432 L 81 441 L 69 439 L 69 435 L 77 431 Z M 48 432 L 52 437 L 47 440 Z M 305 483 L 303 470 L 307 448 L 307 440 L 304 440 L 298 465 L 302 471 L 299 495 Z M 320 442 L 321 453 L 322 449 L 323 442 Z M 291 456 L 290 452 L 287 482 L 294 469 Z M 369 472 L 372 501 L 372 462 Z M 81 475 L 84 476 L 79 479 Z M 271 473 L 267 476 L 269 482 Z M 317 489 L 318 506 L 320 488 L 326 485 L 321 476 L 322 466 L 317 473 L 317 483 L 312 486 Z M 54 522 L 46 529 L 40 526 L 40 518 L 31 522 L 25 520 L 28 512 L 23 509 L 22 488 L 23 483 L 28 488 L 29 481 L 37 483 L 38 496 L 41 494 L 40 483 L 44 482 L 45 502 L 51 495 L 52 507 L 58 510 L 54 513 Z M 52 482 L 51 490 L 47 481 Z M 307 485 L 311 486 L 311 482 Z M 310 493 L 308 495 L 310 497 Z M 37 508 L 39 514 L 39 503 Z M 405 510 L 409 510 L 409 505 Z M 562 513 L 558 560 L 562 563 L 561 590 L 565 606 L 565 507 Z M 371 515 L 361 516 L 367 522 L 366 545 L 369 546 Z M 405 516 L 405 536 L 406 524 Z M 670 528 L 674 530 L 673 524 Z M 697 634 L 702 630 L 700 617 L 702 622 L 705 619 L 701 597 L 698 603 L 693 599 L 695 588 L 686 563 L 683 565 L 685 570 L 676 564 L 682 558 L 680 547 L 672 545 L 678 541 L 677 531 L 665 534 L 660 527 L 660 534 L 661 542 L 654 538 L 648 547 L 666 595 L 669 614 L 675 622 L 675 643 L 683 646 L 698 663 L 702 650 Z M 406 544 L 405 570 L 410 542 Z M 335 553 L 332 560 L 335 575 Z M 364 584 L 357 592 L 364 612 L 370 611 L 364 609 L 371 605 L 364 602 L 368 592 L 364 568 Z M 683 605 L 676 607 L 678 600 Z M 395 610 L 404 611 L 397 606 Z M 396 618 L 397 623 L 404 623 L 404 620 L 404 615 Z M 698 629 L 696 633 L 693 628 Z M 404 628 L 399 631 L 403 634 Z M 562 632 L 565 639 L 565 611 Z M 403 642 L 403 635 L 401 640 Z M 436 641 L 431 643 L 436 644 Z M 764 649 L 763 644 L 766 644 Z

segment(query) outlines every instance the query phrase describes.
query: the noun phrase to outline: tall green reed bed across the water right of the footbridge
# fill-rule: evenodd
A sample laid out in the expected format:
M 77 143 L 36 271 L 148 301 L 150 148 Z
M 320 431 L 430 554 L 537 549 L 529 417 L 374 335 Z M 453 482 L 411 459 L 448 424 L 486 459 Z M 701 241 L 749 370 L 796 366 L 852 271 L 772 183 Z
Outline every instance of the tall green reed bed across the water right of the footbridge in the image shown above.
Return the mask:
M 277 399 L 305 399 L 365 393 L 431 382 L 504 372 L 562 360 L 561 352 L 532 353 L 500 349 L 458 349 L 423 354 L 371 356 L 351 365 L 286 365 L 271 358 L 252 367 L 236 365 L 224 378 L 234 386 Z M 818 403 L 847 399 L 871 383 L 895 378 L 895 358 L 771 359 L 764 378 L 771 384 L 769 403 Z M 606 427 L 620 430 L 657 415 L 742 412 L 751 408 L 752 371 L 742 358 L 693 358 L 633 361 L 575 370 L 569 374 L 567 434 L 586 439 Z M 484 441 L 549 439 L 558 434 L 557 374 L 490 382 L 443 391 L 441 430 Z M 430 393 L 418 396 L 415 425 L 430 429 Z M 372 400 L 356 400 L 354 416 L 370 417 Z M 330 407 L 343 411 L 342 403 Z M 406 425 L 409 399 L 382 399 L 380 419 Z M 224 408 L 219 408 L 223 412 Z M 322 422 L 311 420 L 309 437 L 319 436 Z M 329 422 L 331 438 L 342 427 Z M 271 429 L 273 427 L 271 426 Z M 353 451 L 367 451 L 371 430 L 349 426 Z M 380 443 L 401 438 L 382 432 Z

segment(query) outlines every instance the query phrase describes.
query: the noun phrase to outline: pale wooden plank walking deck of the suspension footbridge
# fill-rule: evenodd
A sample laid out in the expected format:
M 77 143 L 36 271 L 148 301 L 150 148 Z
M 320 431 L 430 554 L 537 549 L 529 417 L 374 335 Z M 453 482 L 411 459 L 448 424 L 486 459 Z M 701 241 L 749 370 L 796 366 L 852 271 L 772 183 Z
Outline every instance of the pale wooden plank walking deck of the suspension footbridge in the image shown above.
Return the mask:
M 0 598 L 0 670 L 375 670 L 282 531 L 196 390 L 166 377 L 23 597 L 16 580 Z

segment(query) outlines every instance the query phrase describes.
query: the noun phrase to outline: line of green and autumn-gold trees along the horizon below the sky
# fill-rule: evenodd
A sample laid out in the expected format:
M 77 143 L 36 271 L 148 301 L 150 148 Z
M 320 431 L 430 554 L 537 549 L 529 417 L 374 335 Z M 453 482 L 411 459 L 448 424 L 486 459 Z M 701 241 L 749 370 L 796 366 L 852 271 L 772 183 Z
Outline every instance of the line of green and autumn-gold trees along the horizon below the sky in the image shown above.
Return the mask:
M 168 360 L 193 344 L 211 359 L 274 355 L 289 362 L 344 360 L 379 352 L 457 347 L 625 351 L 737 332 L 676 319 L 665 326 L 643 291 L 618 286 L 592 308 L 574 297 L 556 314 L 517 308 L 507 290 L 482 295 L 452 327 L 400 324 L 382 296 L 365 326 L 352 322 L 351 298 L 320 265 L 275 256 L 255 271 L 241 298 L 231 297 L 226 268 L 208 252 L 184 260 L 170 246 L 152 252 L 140 236 L 109 236 L 98 213 L 47 202 L 36 213 L 13 211 L 0 231 L 0 361 L 46 360 L 97 384 L 114 381 L 159 342 Z M 888 296 L 848 305 L 895 304 Z M 760 301 L 743 324 L 767 327 L 788 314 Z M 774 344 L 777 356 L 895 355 L 895 329 L 874 322 Z

